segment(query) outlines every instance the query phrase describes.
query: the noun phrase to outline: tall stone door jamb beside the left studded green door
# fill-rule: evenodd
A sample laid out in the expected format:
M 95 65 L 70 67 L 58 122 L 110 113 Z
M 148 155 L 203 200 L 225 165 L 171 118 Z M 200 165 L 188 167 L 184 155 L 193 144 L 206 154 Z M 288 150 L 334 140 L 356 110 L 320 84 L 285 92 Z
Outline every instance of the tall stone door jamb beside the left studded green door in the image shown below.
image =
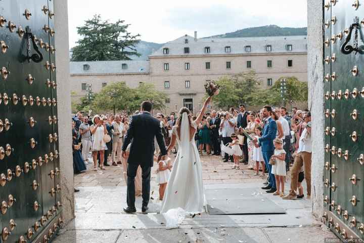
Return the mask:
M 67 1 L 53 2 L 55 11 L 56 75 L 62 204 L 65 224 L 74 218 L 74 186 L 71 126 L 71 90 Z

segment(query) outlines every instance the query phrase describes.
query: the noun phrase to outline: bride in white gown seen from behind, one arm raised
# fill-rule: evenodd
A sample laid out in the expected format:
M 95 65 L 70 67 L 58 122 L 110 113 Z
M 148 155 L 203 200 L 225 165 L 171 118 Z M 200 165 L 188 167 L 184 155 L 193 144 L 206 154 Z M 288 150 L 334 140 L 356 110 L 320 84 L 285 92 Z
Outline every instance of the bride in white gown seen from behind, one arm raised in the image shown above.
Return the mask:
M 164 193 L 160 213 L 181 208 L 186 214 L 204 212 L 205 195 L 202 185 L 202 164 L 195 143 L 195 132 L 200 123 L 211 97 L 208 97 L 203 108 L 192 120 L 190 110 L 183 107 L 179 111 L 176 126 L 172 128 L 172 139 L 167 152 L 178 143 L 178 153 L 173 164 L 167 189 Z

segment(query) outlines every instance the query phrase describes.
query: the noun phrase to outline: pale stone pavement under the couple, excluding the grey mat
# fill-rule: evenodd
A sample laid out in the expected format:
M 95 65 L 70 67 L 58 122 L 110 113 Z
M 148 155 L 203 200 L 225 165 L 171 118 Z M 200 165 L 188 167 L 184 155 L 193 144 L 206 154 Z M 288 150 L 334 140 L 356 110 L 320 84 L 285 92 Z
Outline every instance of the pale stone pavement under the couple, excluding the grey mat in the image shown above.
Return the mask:
M 141 198 L 136 199 L 137 213 L 124 214 L 126 184 L 121 167 L 88 171 L 75 176 L 75 216 L 60 230 L 56 243 L 72 242 L 323 242 L 335 238 L 311 215 L 308 199 L 283 200 L 260 189 L 264 178 L 252 170 L 232 170 L 233 163 L 220 157 L 202 156 L 206 189 L 251 188 L 286 209 L 286 214 L 208 215 L 188 217 L 178 229 L 165 229 L 165 219 L 158 214 L 160 201 L 156 175 L 152 174 L 149 213 L 141 214 Z M 289 181 L 289 178 L 288 178 Z M 304 183 L 305 184 L 305 183 Z M 289 183 L 286 183 L 286 193 Z M 257 193 L 258 194 L 258 193 Z M 216 196 L 218 198 L 218 195 Z M 258 198 L 257 198 L 258 199 Z M 138 208 L 139 206 L 139 208 Z M 243 207 L 243 206 L 242 206 Z

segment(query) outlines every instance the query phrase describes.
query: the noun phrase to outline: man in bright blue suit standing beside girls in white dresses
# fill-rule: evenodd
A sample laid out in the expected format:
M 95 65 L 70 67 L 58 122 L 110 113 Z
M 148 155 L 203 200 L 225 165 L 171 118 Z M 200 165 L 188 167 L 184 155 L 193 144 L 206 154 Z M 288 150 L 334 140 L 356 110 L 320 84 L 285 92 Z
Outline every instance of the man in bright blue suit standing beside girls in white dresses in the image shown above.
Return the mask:
M 256 147 L 261 146 L 263 152 L 263 158 L 266 168 L 268 168 L 268 185 L 262 187 L 262 189 L 267 189 L 267 193 L 273 193 L 277 190 L 276 187 L 276 179 L 275 176 L 271 174 L 271 165 L 269 165 L 269 159 L 271 155 L 274 154 L 275 147 L 273 145 L 273 140 L 277 136 L 277 123 L 274 119 L 272 119 L 271 112 L 272 109 L 270 106 L 264 106 L 262 109 L 263 118 L 264 118 L 264 126 L 262 137 L 253 140 Z

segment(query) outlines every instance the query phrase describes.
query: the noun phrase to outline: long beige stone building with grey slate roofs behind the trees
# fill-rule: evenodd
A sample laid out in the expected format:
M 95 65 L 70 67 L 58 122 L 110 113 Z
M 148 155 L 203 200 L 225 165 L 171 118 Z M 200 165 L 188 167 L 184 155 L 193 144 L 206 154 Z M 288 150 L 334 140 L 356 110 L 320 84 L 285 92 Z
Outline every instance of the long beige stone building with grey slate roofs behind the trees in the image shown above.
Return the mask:
M 197 38 L 185 35 L 153 52 L 148 61 L 71 62 L 73 98 L 85 96 L 85 85 L 94 92 L 112 82 L 137 87 L 151 83 L 168 95 L 165 112 L 186 106 L 200 109 L 204 85 L 221 76 L 254 70 L 261 88 L 282 76 L 307 82 L 306 36 Z

